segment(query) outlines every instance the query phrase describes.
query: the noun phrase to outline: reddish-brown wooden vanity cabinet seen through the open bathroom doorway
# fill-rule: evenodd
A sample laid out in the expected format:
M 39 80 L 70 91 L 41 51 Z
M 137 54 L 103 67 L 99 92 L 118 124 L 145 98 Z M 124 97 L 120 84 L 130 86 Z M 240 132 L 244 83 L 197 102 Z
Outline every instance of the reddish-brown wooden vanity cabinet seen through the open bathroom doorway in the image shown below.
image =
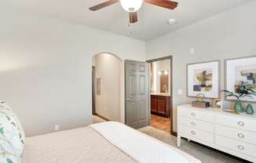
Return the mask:
M 151 112 L 170 117 L 170 96 L 151 95 Z

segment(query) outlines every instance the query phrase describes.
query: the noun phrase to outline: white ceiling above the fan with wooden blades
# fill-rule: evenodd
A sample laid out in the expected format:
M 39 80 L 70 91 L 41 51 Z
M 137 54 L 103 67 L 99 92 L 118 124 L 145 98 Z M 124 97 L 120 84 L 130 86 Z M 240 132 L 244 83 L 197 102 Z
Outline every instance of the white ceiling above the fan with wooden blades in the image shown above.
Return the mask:
M 130 27 L 128 13 L 119 3 L 96 12 L 88 9 L 104 0 L 1 0 L 0 5 L 9 5 L 31 13 L 53 16 L 88 27 L 148 40 L 250 1 L 177 0 L 179 4 L 173 11 L 144 3 L 138 12 L 138 23 Z M 168 25 L 167 20 L 171 18 L 176 19 L 177 23 Z

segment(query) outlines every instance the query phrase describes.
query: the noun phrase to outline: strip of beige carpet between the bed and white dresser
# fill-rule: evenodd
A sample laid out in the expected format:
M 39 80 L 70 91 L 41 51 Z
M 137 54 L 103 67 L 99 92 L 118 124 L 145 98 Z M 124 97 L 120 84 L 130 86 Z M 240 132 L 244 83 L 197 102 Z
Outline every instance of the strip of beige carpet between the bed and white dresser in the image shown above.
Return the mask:
M 151 126 L 144 127 L 139 129 L 139 131 L 148 134 L 149 136 L 155 137 L 165 143 L 170 144 L 173 147 L 176 146 L 177 138 L 171 136 L 168 132 L 163 132 L 162 130 L 155 129 Z M 196 143 L 190 143 L 185 139 L 181 140 L 181 147 L 177 147 L 180 150 L 185 151 L 188 154 L 191 154 L 195 158 L 198 158 L 202 163 L 244 163 L 246 161 L 241 161 L 236 158 L 231 158 L 226 154 L 221 152 L 210 150 L 207 147 L 202 147 Z

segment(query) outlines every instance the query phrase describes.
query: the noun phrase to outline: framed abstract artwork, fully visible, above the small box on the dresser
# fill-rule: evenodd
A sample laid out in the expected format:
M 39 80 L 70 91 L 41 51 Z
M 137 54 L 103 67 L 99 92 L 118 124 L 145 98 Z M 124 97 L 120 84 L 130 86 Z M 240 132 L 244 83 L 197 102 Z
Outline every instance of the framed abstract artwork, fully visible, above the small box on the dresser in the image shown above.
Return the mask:
M 220 97 L 221 61 L 214 60 L 187 64 L 187 96 L 203 93 L 207 99 Z

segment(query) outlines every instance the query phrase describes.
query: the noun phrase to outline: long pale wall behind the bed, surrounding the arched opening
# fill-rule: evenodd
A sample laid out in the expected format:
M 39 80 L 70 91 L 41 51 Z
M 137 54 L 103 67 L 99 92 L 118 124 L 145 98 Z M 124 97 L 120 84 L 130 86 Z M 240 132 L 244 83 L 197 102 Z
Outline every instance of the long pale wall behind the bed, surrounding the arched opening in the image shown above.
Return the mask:
M 133 38 L 3 7 L 0 20 L 0 100 L 27 136 L 91 123 L 95 54 L 145 60 L 145 43 Z

